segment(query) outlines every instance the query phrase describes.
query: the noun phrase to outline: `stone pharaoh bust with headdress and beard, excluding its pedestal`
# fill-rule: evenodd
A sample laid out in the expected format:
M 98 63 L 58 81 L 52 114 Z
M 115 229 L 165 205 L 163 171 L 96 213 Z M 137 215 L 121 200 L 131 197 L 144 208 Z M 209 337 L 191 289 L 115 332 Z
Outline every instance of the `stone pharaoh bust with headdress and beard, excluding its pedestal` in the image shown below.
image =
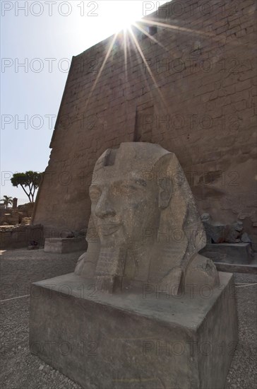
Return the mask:
M 97 160 L 88 251 L 75 273 L 100 291 L 150 284 L 174 296 L 186 286 L 215 287 L 215 265 L 198 254 L 206 243 L 193 194 L 174 153 L 157 144 L 121 143 Z

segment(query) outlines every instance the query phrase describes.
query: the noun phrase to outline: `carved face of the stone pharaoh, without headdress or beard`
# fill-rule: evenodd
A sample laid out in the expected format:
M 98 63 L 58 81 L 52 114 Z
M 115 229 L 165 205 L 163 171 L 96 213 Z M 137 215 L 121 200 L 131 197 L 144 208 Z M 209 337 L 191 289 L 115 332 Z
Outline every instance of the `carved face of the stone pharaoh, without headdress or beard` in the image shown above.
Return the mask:
M 146 228 L 157 228 L 160 209 L 155 180 L 143 180 L 136 173 L 101 176 L 90 186 L 91 211 L 100 241 L 104 245 L 143 243 Z

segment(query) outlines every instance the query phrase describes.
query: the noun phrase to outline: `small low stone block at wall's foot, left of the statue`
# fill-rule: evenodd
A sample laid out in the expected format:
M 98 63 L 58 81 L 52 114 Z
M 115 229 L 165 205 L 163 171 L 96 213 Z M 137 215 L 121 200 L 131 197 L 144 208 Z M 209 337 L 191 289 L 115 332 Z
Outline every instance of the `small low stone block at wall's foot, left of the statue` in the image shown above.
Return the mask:
M 87 241 L 81 238 L 47 238 L 44 240 L 45 252 L 75 252 L 87 250 Z

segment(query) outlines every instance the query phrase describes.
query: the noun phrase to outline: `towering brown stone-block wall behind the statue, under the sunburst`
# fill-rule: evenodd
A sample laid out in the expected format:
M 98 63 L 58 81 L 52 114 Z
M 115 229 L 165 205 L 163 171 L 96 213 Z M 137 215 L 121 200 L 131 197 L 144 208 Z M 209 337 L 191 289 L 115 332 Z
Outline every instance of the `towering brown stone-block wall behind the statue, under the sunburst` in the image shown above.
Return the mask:
M 179 158 L 201 213 L 253 234 L 256 2 L 172 1 L 148 18 L 161 23 L 150 36 L 133 29 L 136 42 L 121 33 L 73 57 L 34 223 L 85 228 L 97 158 L 150 141 Z

